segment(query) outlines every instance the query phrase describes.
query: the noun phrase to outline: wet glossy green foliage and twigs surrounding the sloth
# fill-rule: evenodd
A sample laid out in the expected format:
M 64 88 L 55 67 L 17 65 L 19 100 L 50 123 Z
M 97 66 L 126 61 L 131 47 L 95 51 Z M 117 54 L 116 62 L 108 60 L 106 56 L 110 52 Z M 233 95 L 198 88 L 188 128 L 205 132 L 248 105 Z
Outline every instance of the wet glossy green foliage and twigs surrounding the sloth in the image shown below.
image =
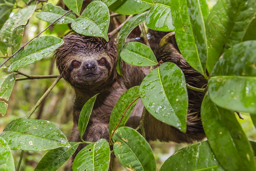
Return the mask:
M 121 58 L 135 66 L 158 65 L 150 47 L 138 42 L 125 45 L 131 31 L 137 25 L 145 23 L 153 30 L 175 30 L 180 52 L 209 83 L 209 90 L 201 106 L 202 123 L 208 140 L 176 152 L 166 160 L 161 170 L 256 170 L 255 143 L 248 141 L 235 113 L 250 113 L 255 126 L 254 0 L 219 0 L 210 12 L 205 0 L 175 0 L 172 3 L 163 0 L 102 0 L 92 1 L 83 11 L 82 0 L 65 0 L 64 3 L 73 12 L 50 3 L 24 2 L 0 0 L 0 50 L 4 60 L 10 59 L 9 63 L 5 61 L 5 65 L 1 67 L 1 70 L 8 69 L 8 73 L 0 78 L 0 98 L 3 99 L 0 101 L 1 114 L 5 115 L 7 103 L 11 103 L 8 100 L 17 81 L 35 78 L 56 80 L 47 91 L 45 90 L 46 93 L 31 109 L 27 118 L 11 121 L 0 134 L 2 170 L 14 170 L 15 160 L 11 149 L 49 150 L 35 170 L 57 170 L 81 143 L 88 145 L 74 159 L 73 170 L 108 170 L 112 152 L 122 166 L 128 169 L 155 170 L 152 149 L 143 137 L 143 117 L 136 130 L 124 127 L 139 97 L 146 110 L 156 119 L 180 131 L 186 131 L 187 88 L 191 87 L 186 87 L 183 72 L 173 63 L 161 64 L 144 78 L 140 87 L 133 87 L 120 97 L 110 117 L 109 143 L 104 139 L 97 142 L 83 141 L 82 135 L 96 95 L 86 102 L 80 114 L 78 130 L 82 142 L 68 142 L 58 128 L 59 125 L 46 120 L 29 119 L 60 77 L 52 74 L 31 76 L 18 69 L 29 67 L 47 56 L 52 57 L 52 52 L 63 43 L 58 37 L 64 35 L 62 33 L 52 36 L 47 30 L 48 35 L 34 37 L 27 43 L 26 49 L 25 43 L 20 47 L 24 29 L 31 16 L 37 13 L 37 18 L 51 23 L 49 27 L 55 24 L 54 30 L 63 29 L 64 25 L 58 25 L 71 23 L 72 29 L 77 33 L 103 37 L 108 41 L 109 10 L 121 15 L 135 15 L 123 25 L 117 36 L 119 57 L 116 69 L 120 75 Z M 11 11 L 15 14 L 8 17 Z M 43 67 L 45 66 L 42 65 Z M 18 78 L 16 75 L 23 75 L 25 78 Z M 208 87 L 200 91 L 205 92 L 207 89 Z M 113 145 L 113 151 L 110 151 L 110 145 Z

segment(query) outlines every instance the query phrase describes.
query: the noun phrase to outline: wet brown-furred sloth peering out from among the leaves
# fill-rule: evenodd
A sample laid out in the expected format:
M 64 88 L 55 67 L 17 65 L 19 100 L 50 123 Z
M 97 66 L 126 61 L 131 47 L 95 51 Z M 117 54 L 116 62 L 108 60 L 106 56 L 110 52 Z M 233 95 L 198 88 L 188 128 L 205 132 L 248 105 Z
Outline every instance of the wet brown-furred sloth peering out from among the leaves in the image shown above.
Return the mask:
M 207 80 L 193 69 L 175 48 L 170 40 L 165 46 L 158 47 L 164 33 L 151 31 L 150 43 L 154 47 L 157 60 L 175 63 L 185 74 L 186 82 L 191 86 L 205 88 Z M 155 34 L 155 35 L 154 35 Z M 166 33 L 165 33 L 166 34 Z M 158 36 L 156 36 L 158 35 Z M 100 138 L 109 140 L 109 118 L 114 105 L 120 96 L 129 88 L 139 86 L 149 73 L 150 67 L 137 67 L 122 61 L 120 76 L 116 68 L 118 52 L 115 38 L 104 38 L 70 34 L 63 37 L 64 43 L 57 49 L 56 65 L 63 77 L 75 91 L 73 105 L 73 128 L 70 141 L 80 142 L 78 119 L 83 105 L 93 95 L 97 95 L 88 126 L 83 139 L 96 142 Z M 144 129 L 147 140 L 174 141 L 192 143 L 205 138 L 200 119 L 200 106 L 204 93 L 188 89 L 189 106 L 187 113 L 187 131 L 180 132 L 173 126 L 164 124 L 146 113 Z M 142 114 L 143 104 L 138 101 L 126 123 L 126 126 L 136 128 Z M 75 155 L 85 144 L 80 144 Z

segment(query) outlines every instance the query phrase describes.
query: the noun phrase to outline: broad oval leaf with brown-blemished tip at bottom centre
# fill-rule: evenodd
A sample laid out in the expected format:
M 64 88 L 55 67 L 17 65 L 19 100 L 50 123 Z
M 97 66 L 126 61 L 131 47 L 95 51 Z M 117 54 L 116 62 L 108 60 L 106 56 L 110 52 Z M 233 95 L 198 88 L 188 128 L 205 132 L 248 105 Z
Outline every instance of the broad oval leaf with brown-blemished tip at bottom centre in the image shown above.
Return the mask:
M 145 138 L 130 127 L 121 127 L 113 134 L 114 153 L 129 170 L 156 170 L 153 151 Z

